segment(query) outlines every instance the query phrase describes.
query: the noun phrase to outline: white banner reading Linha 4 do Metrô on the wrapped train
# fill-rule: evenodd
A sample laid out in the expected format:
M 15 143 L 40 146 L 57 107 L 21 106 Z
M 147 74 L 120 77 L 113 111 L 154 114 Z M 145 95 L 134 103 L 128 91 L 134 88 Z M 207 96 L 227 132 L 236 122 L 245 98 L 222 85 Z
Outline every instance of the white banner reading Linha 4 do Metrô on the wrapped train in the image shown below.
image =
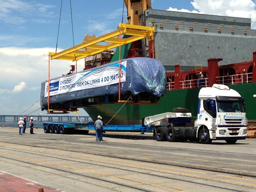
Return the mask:
M 121 63 L 121 82 L 126 81 L 126 62 Z M 119 83 L 119 63 L 96 70 L 76 73 L 73 76 L 61 77 L 50 81 L 50 96 L 77 90 L 103 87 Z M 48 82 L 45 84 L 44 97 L 48 96 Z

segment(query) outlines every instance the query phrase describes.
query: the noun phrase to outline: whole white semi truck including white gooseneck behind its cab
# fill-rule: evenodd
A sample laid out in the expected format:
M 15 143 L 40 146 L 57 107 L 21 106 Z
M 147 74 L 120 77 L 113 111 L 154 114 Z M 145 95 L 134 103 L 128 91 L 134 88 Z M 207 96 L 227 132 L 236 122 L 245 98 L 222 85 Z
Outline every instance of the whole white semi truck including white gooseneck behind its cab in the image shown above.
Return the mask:
M 226 85 L 214 84 L 201 88 L 198 118 L 189 127 L 191 113 L 162 113 L 145 118 L 145 125 L 154 126 L 157 141 L 196 140 L 209 144 L 212 140 L 225 140 L 229 144 L 247 137 L 245 103 L 241 95 Z

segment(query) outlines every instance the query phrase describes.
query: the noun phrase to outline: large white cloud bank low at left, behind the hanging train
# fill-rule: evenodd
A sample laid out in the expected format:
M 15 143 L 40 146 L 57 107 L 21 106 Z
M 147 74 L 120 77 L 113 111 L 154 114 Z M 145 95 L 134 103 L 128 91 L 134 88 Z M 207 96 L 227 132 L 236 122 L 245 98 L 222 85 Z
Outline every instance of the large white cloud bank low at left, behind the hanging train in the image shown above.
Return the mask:
M 6 114 L 20 113 L 40 99 L 41 83 L 48 80 L 49 52 L 55 52 L 55 48 L 0 48 L 0 107 L 6 109 Z M 50 79 L 67 74 L 70 65 L 76 63 L 50 60 Z M 78 71 L 83 70 L 84 60 L 77 62 L 77 66 Z

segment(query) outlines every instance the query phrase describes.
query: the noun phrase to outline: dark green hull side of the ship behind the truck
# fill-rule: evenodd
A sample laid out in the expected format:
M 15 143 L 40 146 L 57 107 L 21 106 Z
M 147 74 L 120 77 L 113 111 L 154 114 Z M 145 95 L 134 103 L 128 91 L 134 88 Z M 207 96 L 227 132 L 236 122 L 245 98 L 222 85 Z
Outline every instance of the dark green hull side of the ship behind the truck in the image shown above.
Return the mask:
M 256 119 L 256 83 L 229 85 L 238 91 L 246 103 L 246 117 L 248 120 Z M 108 125 L 141 124 L 146 116 L 159 113 L 172 112 L 173 108 L 187 108 L 192 117 L 197 118 L 198 93 L 200 88 L 170 90 L 166 96 L 161 97 L 157 104 L 130 104 L 113 103 L 85 107 L 84 110 L 93 120 L 100 115 Z M 112 119 L 113 118 L 113 119 Z M 110 122 L 109 122 L 110 121 Z

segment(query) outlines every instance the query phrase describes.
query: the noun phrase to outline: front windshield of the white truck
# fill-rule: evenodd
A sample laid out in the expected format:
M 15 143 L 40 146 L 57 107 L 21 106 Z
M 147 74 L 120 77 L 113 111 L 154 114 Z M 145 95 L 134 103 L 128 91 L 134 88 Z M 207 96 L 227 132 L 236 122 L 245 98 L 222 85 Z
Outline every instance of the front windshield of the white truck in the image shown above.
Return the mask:
M 244 102 L 228 102 L 218 101 L 217 102 L 218 112 L 235 112 L 244 113 Z

